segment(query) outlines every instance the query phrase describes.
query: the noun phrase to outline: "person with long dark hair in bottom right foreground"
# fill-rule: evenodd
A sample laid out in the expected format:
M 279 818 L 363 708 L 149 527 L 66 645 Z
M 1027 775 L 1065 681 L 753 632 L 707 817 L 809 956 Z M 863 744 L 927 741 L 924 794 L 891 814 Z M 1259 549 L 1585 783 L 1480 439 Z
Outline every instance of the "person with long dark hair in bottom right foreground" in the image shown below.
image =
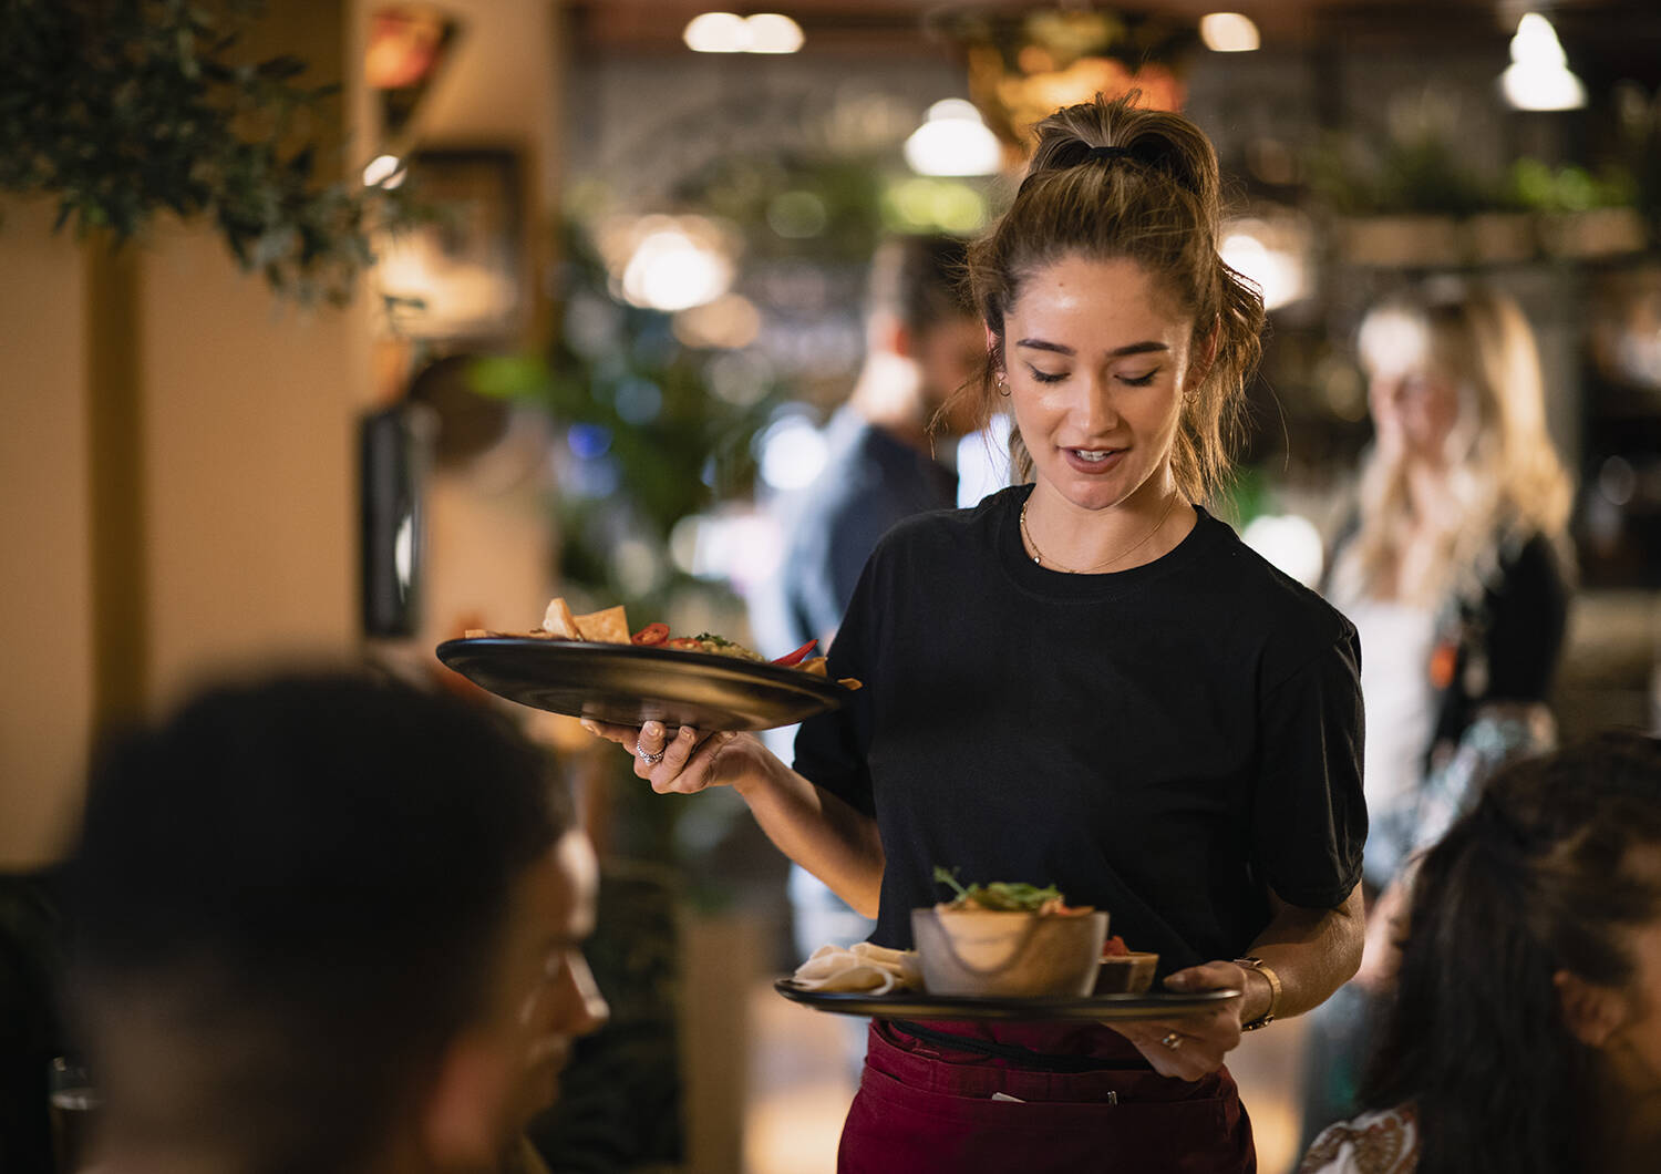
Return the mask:
M 1661 1169 L 1661 741 L 1497 774 L 1407 918 L 1365 1111 L 1302 1174 Z

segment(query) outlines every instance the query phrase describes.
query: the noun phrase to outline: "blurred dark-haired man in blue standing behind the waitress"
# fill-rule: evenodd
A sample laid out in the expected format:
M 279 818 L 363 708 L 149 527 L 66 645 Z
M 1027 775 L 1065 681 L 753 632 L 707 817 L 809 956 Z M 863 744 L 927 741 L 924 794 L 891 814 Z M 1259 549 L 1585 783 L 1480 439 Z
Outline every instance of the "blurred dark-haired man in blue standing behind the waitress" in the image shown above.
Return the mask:
M 827 427 L 824 472 L 777 501 L 784 553 L 751 599 L 757 648 L 809 639 L 829 648 L 877 540 L 902 518 L 957 505 L 950 462 L 977 422 L 973 397 L 953 392 L 987 359 L 985 329 L 960 284 L 963 256 L 963 242 L 947 236 L 900 236 L 877 249 L 865 362 Z M 789 762 L 794 736 L 794 726 L 769 731 L 767 746 Z M 807 870 L 791 865 L 789 883 L 801 956 L 870 933 L 872 923 Z

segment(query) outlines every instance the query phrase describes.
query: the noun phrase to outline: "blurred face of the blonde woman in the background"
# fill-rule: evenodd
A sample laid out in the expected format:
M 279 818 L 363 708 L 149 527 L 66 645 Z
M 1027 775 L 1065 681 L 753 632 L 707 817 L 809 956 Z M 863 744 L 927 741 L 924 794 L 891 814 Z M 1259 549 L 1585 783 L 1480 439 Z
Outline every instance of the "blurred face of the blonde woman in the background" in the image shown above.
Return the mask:
M 1430 352 L 1428 330 L 1407 317 L 1369 324 L 1362 342 L 1367 407 L 1379 447 L 1440 463 L 1458 423 L 1458 385 Z

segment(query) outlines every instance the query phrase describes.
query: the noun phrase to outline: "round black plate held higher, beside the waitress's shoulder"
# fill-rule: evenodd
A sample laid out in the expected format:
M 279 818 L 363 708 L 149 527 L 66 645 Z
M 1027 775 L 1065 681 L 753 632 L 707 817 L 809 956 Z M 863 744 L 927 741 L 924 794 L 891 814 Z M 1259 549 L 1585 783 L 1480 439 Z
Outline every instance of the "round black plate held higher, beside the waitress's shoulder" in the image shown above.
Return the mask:
M 834 709 L 850 692 L 801 669 L 635 644 L 482 636 L 445 641 L 437 653 L 498 697 L 621 726 L 772 729 Z

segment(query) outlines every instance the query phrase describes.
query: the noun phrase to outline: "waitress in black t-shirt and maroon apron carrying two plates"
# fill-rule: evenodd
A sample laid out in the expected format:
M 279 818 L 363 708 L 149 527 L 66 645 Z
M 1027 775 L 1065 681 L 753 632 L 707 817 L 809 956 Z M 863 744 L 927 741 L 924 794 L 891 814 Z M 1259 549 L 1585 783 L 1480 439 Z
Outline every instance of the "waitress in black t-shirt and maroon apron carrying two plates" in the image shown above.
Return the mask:
M 1262 325 L 1218 224 L 1183 116 L 1045 120 L 968 259 L 1025 483 L 889 531 L 830 649 L 865 687 L 794 770 L 749 736 L 600 729 L 656 790 L 737 787 L 880 945 L 945 865 L 1056 883 L 1168 986 L 1244 991 L 1115 1028 L 875 1021 L 844 1171 L 1254 1169 L 1224 1056 L 1359 963 L 1355 633 L 1199 505 Z

